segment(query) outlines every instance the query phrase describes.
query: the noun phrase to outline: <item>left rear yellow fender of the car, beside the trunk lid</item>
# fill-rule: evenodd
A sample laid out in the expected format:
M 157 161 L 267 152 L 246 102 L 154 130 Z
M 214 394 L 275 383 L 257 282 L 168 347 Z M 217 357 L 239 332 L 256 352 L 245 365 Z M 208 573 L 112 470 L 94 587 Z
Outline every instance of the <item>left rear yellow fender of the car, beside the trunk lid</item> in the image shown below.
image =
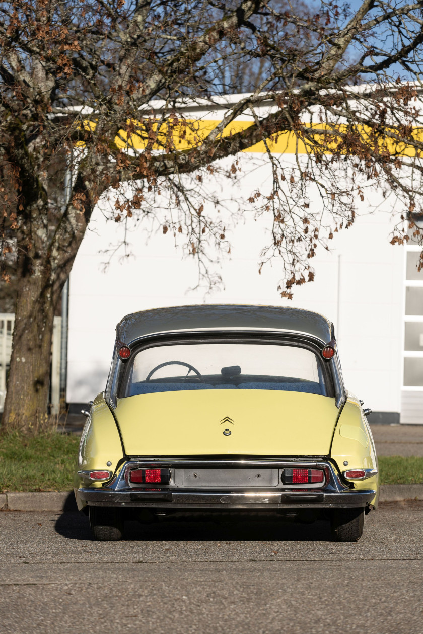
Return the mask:
M 115 471 L 123 451 L 119 430 L 103 394 L 94 400 L 89 417 L 82 429 L 79 443 L 78 460 L 74 475 L 75 493 L 82 486 L 101 487 L 101 481 L 89 482 L 78 475 L 78 471 L 108 470 Z M 108 462 L 112 464 L 107 465 Z M 78 500 L 78 496 L 77 501 Z

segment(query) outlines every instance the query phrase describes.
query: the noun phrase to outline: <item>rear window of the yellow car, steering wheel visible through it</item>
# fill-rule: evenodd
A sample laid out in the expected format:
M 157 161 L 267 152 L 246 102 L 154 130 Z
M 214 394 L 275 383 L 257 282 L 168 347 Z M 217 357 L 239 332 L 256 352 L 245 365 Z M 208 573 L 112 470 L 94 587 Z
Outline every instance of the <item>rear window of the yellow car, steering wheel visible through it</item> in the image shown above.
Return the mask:
M 304 347 L 193 342 L 136 353 L 121 393 L 219 389 L 330 392 L 320 358 Z

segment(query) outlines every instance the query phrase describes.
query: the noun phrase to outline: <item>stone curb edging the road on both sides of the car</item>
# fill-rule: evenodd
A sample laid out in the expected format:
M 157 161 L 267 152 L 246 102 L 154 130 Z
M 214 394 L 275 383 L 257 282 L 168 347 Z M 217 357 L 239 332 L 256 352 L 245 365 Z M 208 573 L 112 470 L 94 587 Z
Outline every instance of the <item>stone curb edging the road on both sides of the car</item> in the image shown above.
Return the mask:
M 380 502 L 423 500 L 423 484 L 382 484 Z M 0 493 L 0 510 L 63 511 L 77 510 L 74 491 L 10 491 Z

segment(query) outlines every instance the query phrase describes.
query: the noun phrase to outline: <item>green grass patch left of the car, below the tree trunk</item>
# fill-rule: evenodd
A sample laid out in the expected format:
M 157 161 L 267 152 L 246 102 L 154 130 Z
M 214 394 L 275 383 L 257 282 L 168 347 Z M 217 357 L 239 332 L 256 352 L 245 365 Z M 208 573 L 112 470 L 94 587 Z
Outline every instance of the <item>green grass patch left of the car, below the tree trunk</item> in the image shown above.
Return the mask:
M 51 432 L 0 436 L 0 491 L 68 491 L 79 437 Z

